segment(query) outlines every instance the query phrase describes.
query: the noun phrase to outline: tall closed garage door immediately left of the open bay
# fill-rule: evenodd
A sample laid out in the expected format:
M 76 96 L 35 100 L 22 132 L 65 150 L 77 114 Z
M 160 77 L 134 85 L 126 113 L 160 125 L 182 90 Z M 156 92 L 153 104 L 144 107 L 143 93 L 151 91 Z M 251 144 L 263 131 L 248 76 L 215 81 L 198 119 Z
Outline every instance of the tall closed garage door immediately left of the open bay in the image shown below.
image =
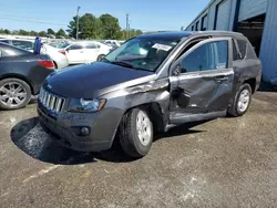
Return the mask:
M 224 0 L 217 4 L 217 19 L 216 30 L 228 30 L 229 27 L 229 14 L 230 14 L 230 0 Z

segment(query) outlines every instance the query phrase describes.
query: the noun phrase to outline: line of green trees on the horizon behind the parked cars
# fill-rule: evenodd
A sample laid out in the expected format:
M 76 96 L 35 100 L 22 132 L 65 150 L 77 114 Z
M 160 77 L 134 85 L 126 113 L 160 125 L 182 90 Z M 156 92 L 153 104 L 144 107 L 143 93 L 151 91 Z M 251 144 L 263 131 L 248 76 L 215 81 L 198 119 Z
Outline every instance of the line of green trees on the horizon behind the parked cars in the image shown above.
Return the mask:
M 32 35 L 32 37 L 64 37 L 64 38 L 76 38 L 76 15 L 73 17 L 72 21 L 69 22 L 66 32 L 63 29 L 58 30 L 57 32 L 49 28 L 47 31 L 25 31 L 25 30 L 13 30 L 0 29 L 0 34 L 17 34 L 17 35 Z M 129 29 L 123 30 L 120 27 L 119 19 L 106 13 L 102 14 L 99 18 L 92 13 L 85 13 L 79 17 L 79 39 L 81 40 L 125 40 L 132 37 L 142 34 L 141 30 Z

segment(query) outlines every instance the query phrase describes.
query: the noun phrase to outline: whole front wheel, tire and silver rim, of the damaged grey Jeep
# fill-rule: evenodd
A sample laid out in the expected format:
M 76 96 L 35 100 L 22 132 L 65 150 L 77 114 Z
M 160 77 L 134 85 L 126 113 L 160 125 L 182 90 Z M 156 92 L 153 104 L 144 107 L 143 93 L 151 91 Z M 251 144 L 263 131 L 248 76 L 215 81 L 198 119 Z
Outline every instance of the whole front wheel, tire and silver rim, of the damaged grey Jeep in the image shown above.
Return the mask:
M 143 108 L 133 108 L 124 115 L 120 143 L 133 158 L 144 157 L 153 142 L 153 124 Z

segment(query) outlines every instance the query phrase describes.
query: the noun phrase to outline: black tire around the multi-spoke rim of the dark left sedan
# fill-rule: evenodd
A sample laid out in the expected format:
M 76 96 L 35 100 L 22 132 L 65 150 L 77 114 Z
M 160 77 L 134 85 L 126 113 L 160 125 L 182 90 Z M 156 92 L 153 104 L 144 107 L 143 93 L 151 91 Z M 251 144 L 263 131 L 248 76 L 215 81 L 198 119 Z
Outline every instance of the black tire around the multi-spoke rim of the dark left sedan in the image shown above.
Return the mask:
M 4 104 L 4 101 L 7 101 L 7 98 L 4 101 L 0 100 L 0 108 L 1 110 L 18 110 L 18 108 L 25 107 L 28 105 L 28 103 L 30 102 L 31 96 L 32 96 L 32 92 L 31 92 L 29 84 L 20 79 L 4 79 L 4 80 L 0 81 L 0 89 L 2 86 L 6 86 L 9 83 L 19 84 L 23 89 L 23 91 L 25 92 L 25 97 L 22 98 L 22 103 L 20 103 L 18 105 L 14 102 L 12 104 L 8 104 L 8 103 Z M 0 97 L 1 98 L 3 97 L 3 92 L 0 92 Z

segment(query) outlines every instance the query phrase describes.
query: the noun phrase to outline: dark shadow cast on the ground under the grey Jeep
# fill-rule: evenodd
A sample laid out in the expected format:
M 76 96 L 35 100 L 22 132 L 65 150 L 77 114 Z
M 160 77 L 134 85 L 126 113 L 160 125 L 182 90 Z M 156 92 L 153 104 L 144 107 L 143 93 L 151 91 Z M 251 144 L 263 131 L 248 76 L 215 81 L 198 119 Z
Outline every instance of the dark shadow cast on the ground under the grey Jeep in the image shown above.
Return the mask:
M 167 133 L 155 136 L 154 142 L 184 134 L 196 134 L 203 131 L 189 129 L 205 122 L 189 123 L 172 128 Z M 130 163 L 134 159 L 127 157 L 120 143 L 114 143 L 110 150 L 102 153 L 81 153 L 59 145 L 52 141 L 52 135 L 47 134 L 39 124 L 39 118 L 33 117 L 19 122 L 10 133 L 12 142 L 25 154 L 41 162 L 60 164 L 60 165 L 78 165 L 94 163 L 98 159 L 111 163 Z

